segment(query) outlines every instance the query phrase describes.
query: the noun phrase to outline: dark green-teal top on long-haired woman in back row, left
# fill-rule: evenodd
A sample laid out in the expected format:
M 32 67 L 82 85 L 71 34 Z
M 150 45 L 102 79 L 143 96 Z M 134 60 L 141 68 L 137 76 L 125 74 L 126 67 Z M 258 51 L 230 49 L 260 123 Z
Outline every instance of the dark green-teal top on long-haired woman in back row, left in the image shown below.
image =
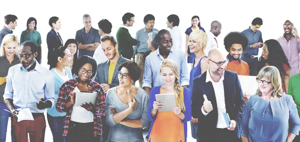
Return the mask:
M 28 29 L 22 31 L 21 38 L 20 38 L 20 44 L 22 44 L 26 40 L 31 40 L 36 44 L 36 47 L 39 47 L 41 44 L 41 38 L 38 31 L 33 30 L 33 32 L 29 32 Z

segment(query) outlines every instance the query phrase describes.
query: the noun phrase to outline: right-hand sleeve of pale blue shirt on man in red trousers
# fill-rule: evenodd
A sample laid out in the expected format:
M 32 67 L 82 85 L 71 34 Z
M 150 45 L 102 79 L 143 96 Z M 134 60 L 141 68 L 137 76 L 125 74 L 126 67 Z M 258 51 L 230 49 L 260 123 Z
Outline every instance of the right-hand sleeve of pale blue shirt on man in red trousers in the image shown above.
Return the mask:
M 54 98 L 55 98 L 55 93 L 54 93 L 54 75 L 52 72 L 49 72 L 47 77 L 46 77 L 46 82 L 44 86 L 44 93 L 46 97 L 46 101 L 51 101 L 52 106 L 54 106 Z M 49 109 L 51 109 L 49 108 Z

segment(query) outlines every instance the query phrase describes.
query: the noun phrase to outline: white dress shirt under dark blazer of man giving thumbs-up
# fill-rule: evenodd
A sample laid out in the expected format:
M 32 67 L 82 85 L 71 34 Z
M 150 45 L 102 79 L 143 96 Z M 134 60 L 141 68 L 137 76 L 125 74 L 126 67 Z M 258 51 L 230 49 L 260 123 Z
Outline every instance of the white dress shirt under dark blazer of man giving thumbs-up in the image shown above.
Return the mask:
M 219 82 L 214 82 L 210 76 L 209 73 L 209 68 L 207 69 L 206 72 L 206 83 L 211 82 L 214 94 L 215 94 L 215 100 L 216 100 L 216 106 L 217 106 L 217 123 L 216 123 L 216 128 L 227 128 L 223 113 L 226 113 L 226 106 L 225 106 L 225 96 L 224 96 L 224 86 L 223 86 L 223 80 L 224 76 L 221 77 Z M 208 100 L 209 101 L 209 100 Z M 215 108 L 213 108 L 215 109 Z M 203 110 L 203 106 L 201 108 L 201 111 L 203 115 L 207 115 L 208 113 L 205 113 Z

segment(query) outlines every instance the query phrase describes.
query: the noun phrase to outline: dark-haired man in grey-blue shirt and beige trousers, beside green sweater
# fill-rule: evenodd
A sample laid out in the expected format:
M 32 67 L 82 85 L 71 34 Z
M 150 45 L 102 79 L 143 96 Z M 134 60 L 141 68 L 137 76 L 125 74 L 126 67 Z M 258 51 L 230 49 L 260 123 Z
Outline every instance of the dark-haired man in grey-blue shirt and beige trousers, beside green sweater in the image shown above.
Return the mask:
M 143 71 L 144 71 L 144 64 L 145 64 L 145 58 L 149 55 L 151 50 L 148 48 L 148 33 L 152 31 L 157 31 L 157 29 L 154 27 L 154 21 L 155 17 L 151 14 L 147 14 L 144 16 L 144 24 L 145 27 L 138 30 L 135 35 L 135 39 L 138 41 L 138 44 L 136 46 L 133 46 L 133 61 L 134 57 L 136 55 L 136 63 L 138 64 L 140 68 L 140 77 L 138 79 L 139 87 L 142 87 L 142 77 L 143 77 Z

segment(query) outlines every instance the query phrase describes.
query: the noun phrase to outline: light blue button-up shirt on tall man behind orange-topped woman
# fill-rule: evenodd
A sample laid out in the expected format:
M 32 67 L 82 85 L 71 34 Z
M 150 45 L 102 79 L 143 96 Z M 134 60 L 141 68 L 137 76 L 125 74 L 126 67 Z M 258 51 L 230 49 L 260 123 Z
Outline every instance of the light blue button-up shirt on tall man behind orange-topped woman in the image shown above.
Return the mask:
M 189 72 L 187 70 L 187 62 L 185 54 L 177 49 L 171 48 L 167 59 L 173 60 L 179 70 L 179 84 L 180 86 L 189 84 Z M 146 57 L 144 74 L 142 80 L 142 87 L 151 88 L 151 83 L 153 81 L 153 87 L 163 85 L 164 82 L 159 74 L 159 67 L 161 61 L 164 60 L 163 57 L 159 54 L 159 48 L 156 51 L 152 52 Z

